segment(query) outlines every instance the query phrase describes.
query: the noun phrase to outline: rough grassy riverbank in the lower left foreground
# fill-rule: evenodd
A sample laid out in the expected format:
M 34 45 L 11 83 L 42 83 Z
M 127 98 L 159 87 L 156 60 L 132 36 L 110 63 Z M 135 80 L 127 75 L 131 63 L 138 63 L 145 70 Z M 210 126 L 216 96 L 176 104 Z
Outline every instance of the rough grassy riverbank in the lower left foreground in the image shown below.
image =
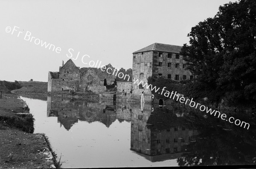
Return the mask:
M 32 134 L 34 119 L 26 103 L 3 93 L 0 105 L 0 168 L 55 168 L 44 134 Z

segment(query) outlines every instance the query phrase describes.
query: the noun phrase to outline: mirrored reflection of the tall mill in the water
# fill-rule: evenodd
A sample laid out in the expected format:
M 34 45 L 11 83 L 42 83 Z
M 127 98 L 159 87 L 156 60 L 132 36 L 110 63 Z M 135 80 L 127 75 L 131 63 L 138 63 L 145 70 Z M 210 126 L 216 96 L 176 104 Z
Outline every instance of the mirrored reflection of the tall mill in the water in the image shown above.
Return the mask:
M 180 120 L 175 114 L 160 116 L 156 110 L 151 112 L 151 105 L 144 105 L 143 112 L 133 109 L 131 150 L 148 155 L 145 158 L 151 161 L 179 158 L 198 132 L 172 123 L 175 119 Z M 165 124 L 161 118 L 172 120 L 169 119 L 169 124 Z

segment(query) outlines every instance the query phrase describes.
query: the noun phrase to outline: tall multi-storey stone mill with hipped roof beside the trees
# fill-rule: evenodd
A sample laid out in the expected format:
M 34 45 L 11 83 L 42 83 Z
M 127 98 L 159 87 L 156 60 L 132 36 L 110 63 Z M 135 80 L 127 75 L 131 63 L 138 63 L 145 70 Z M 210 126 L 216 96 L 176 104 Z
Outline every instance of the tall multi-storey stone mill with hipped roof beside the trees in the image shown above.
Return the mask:
M 143 49 L 133 52 L 132 77 L 148 82 L 147 77 L 164 77 L 172 80 L 193 80 L 194 76 L 186 69 L 184 56 L 180 55 L 182 46 L 153 43 Z M 151 101 L 151 90 L 143 85 L 131 84 L 131 93 L 125 100 L 139 100 L 142 92 L 145 101 Z M 126 85 L 127 86 L 127 85 Z M 118 95 L 116 96 L 118 98 Z M 121 98 L 121 97 L 120 97 Z

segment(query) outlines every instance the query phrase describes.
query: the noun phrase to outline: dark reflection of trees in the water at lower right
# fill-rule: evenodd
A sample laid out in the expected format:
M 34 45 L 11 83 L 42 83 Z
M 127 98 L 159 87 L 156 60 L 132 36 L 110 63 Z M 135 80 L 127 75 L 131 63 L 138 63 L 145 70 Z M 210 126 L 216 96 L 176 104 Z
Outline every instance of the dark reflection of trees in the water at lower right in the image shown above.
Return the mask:
M 187 151 L 182 154 L 183 157 L 177 158 L 179 166 L 255 164 L 254 126 L 250 126 L 248 131 L 219 118 L 209 116 L 205 119 L 204 113 L 201 112 L 183 110 L 177 107 L 156 108 L 147 121 L 152 124 L 148 128 L 156 131 L 164 131 L 175 126 L 198 130 L 200 134 L 186 145 Z

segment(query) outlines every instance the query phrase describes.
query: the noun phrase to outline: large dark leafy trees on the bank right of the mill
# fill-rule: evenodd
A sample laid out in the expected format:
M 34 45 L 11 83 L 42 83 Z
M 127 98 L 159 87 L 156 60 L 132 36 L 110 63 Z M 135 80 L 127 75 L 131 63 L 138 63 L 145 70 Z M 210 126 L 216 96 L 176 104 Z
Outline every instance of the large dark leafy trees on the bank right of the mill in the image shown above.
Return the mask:
M 217 100 L 256 101 L 256 1 L 220 6 L 215 17 L 198 23 L 188 36 L 190 45 L 181 49 L 187 68 L 218 91 Z

